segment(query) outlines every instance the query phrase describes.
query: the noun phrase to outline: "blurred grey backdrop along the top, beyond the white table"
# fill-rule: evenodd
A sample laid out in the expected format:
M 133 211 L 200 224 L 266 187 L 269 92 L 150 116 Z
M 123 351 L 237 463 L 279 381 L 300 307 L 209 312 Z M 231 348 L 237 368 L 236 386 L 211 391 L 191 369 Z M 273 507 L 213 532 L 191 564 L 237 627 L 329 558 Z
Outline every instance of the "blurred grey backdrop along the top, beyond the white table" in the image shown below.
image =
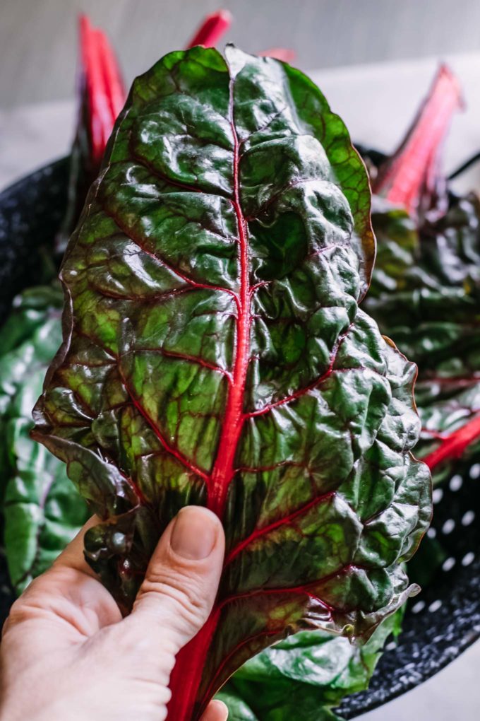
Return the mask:
M 107 30 L 127 83 L 182 48 L 217 0 L 1 0 L 0 108 L 71 97 L 77 12 Z M 294 48 L 303 69 L 480 50 L 476 0 L 225 0 L 227 42 Z

